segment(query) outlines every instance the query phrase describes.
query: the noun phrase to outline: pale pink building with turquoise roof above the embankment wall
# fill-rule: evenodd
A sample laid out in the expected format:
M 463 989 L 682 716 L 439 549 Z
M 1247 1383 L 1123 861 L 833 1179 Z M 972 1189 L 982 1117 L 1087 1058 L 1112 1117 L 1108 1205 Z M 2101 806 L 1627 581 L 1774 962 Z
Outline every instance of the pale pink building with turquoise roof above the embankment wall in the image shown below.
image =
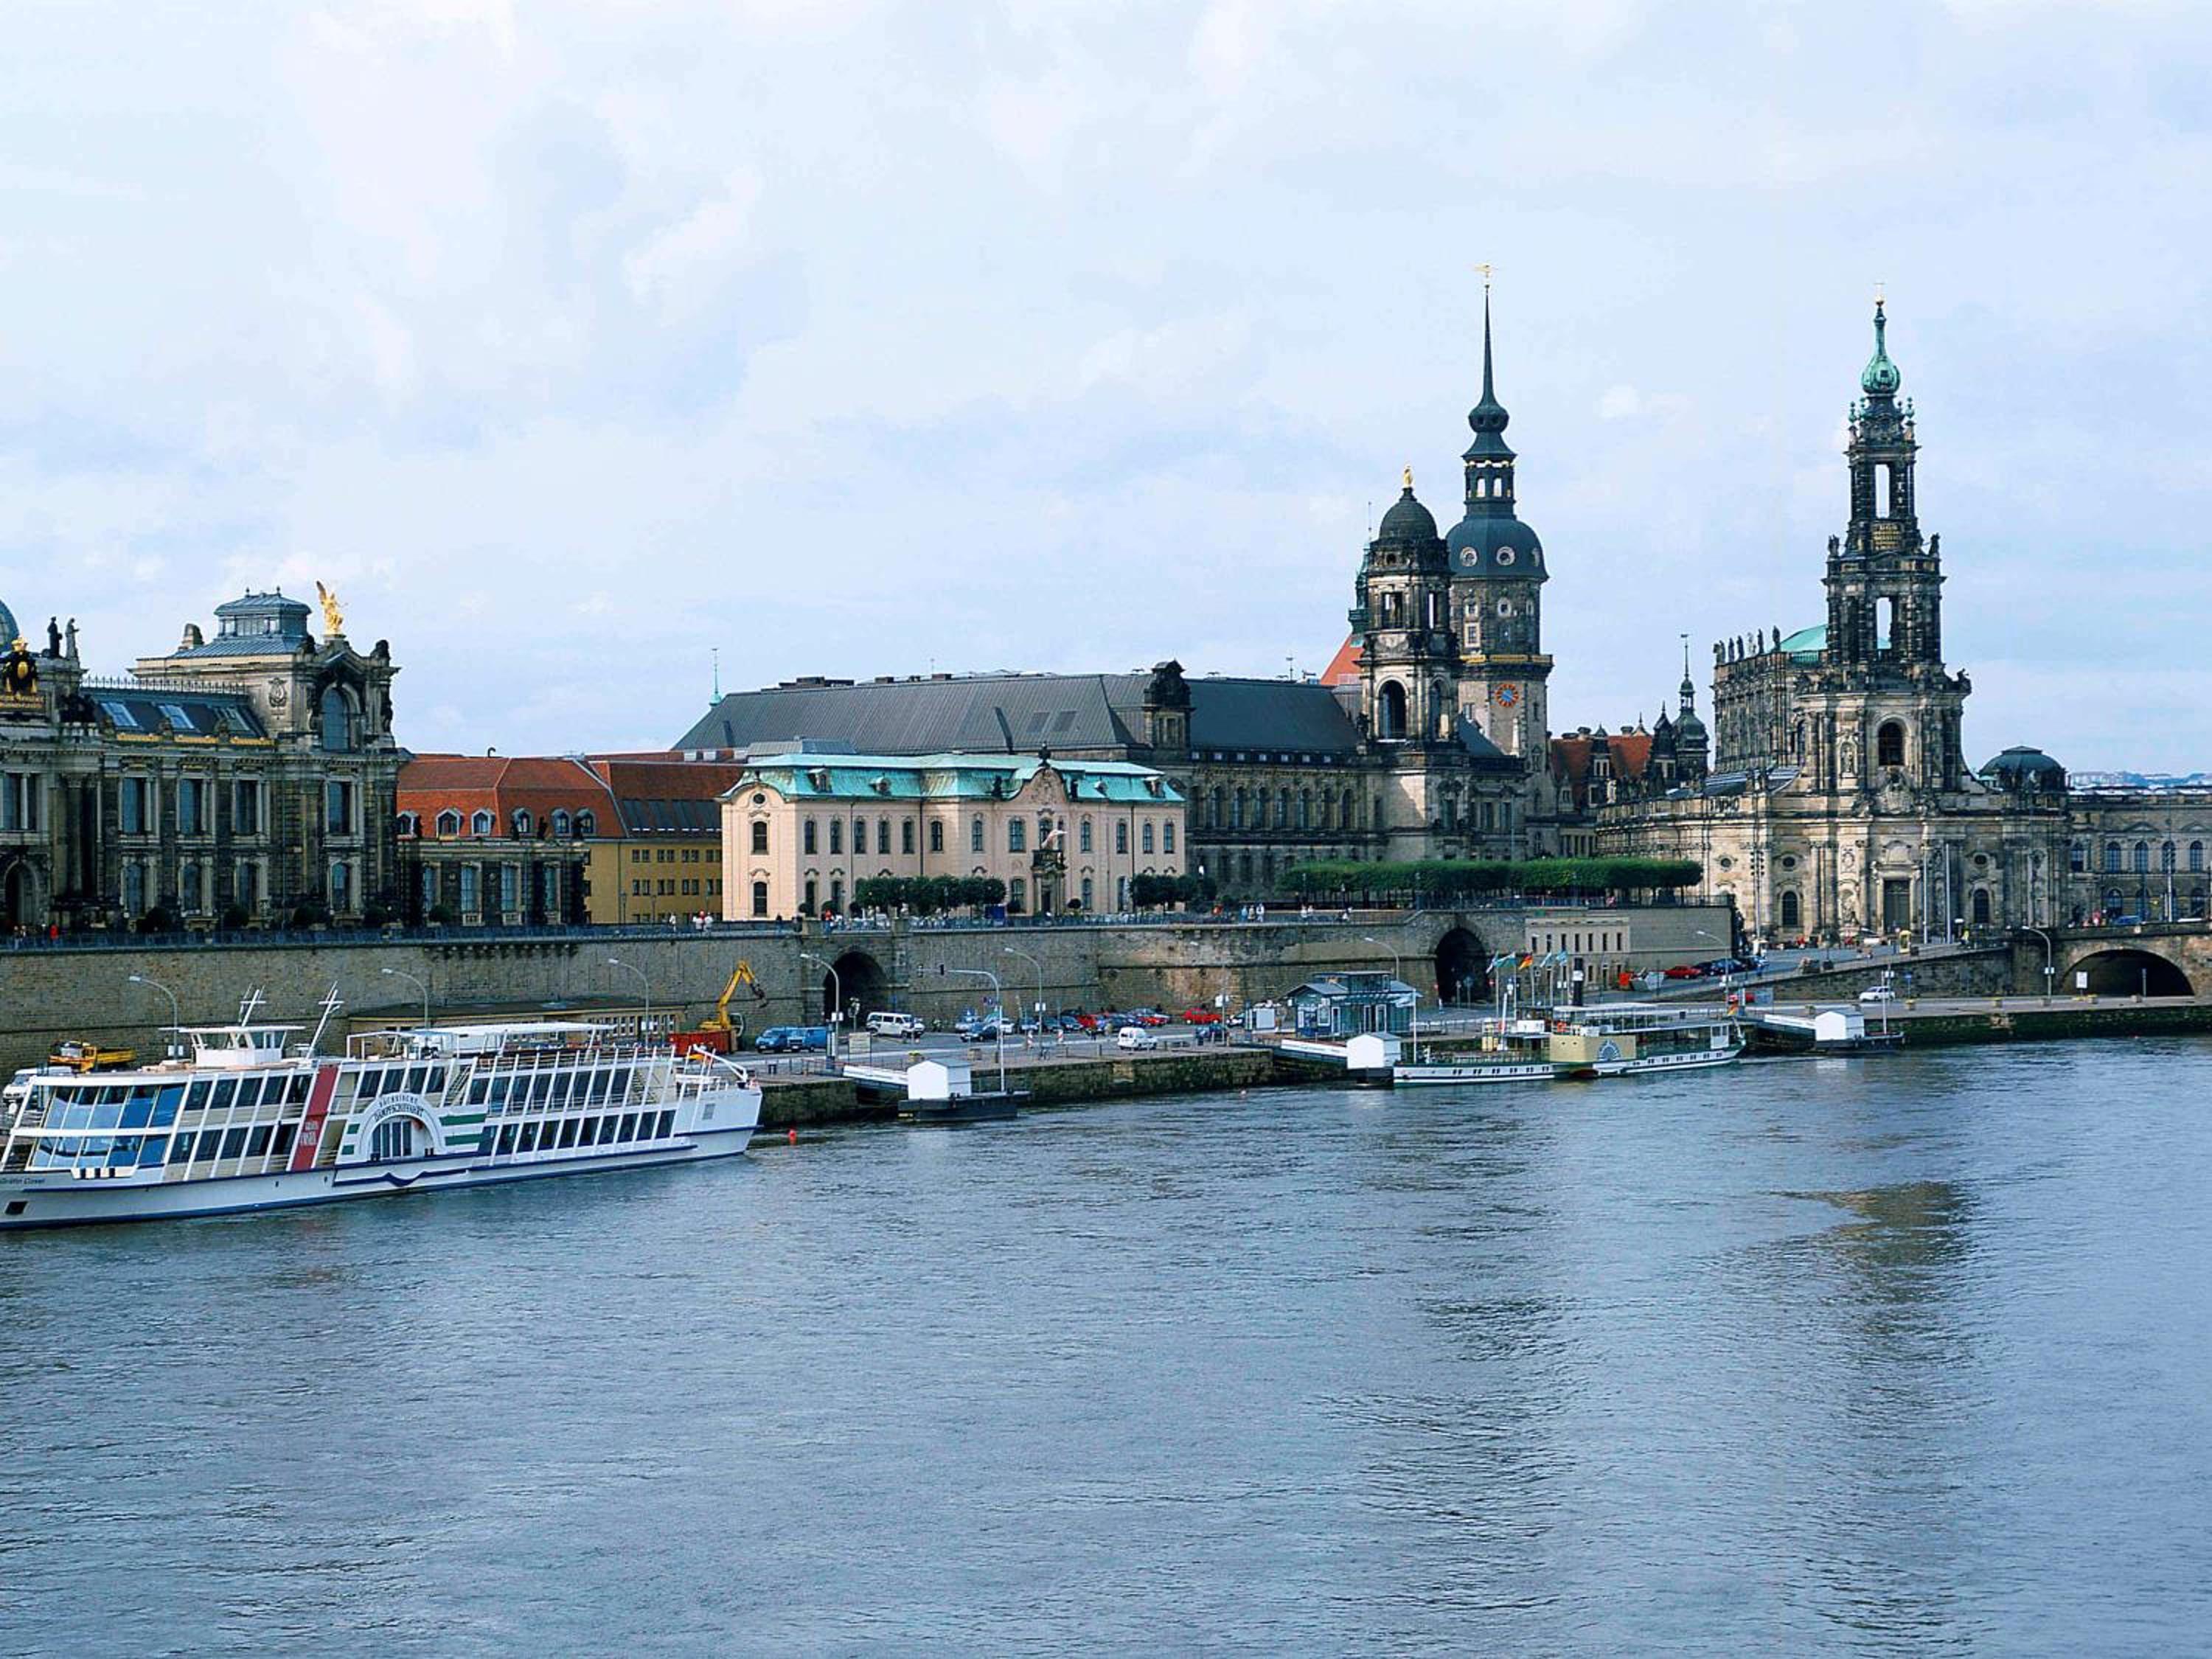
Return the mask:
M 721 916 L 843 911 L 863 880 L 982 876 L 1009 914 L 1130 907 L 1181 876 L 1183 796 L 1126 761 L 1018 754 L 776 754 L 721 796 Z

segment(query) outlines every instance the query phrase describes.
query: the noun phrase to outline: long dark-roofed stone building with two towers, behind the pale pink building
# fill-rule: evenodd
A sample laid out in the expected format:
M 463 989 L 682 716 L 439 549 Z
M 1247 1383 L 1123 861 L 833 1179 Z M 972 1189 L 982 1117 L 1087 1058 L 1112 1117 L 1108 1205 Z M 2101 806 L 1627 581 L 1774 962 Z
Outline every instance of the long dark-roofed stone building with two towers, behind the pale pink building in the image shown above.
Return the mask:
M 1321 679 L 929 675 L 796 679 L 721 697 L 675 748 L 1018 757 L 1152 768 L 1188 799 L 1188 863 L 1267 896 L 1316 858 L 1517 858 L 1555 852 L 1546 768 L 1544 546 L 1517 515 L 1484 305 L 1464 513 L 1447 533 L 1411 473 L 1354 575 L 1352 639 Z M 732 887 L 732 894 L 739 891 Z

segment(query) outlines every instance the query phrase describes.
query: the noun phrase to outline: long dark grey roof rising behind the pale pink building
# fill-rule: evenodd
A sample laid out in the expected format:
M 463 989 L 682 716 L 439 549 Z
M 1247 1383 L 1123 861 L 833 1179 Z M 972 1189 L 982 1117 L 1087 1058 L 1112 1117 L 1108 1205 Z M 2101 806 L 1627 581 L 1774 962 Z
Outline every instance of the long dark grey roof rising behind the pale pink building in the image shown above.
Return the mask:
M 973 675 L 785 684 L 730 692 L 677 750 L 816 741 L 854 754 L 1119 754 L 1144 741 L 1150 675 Z M 1190 748 L 1349 752 L 1358 732 L 1327 686 L 1192 679 Z

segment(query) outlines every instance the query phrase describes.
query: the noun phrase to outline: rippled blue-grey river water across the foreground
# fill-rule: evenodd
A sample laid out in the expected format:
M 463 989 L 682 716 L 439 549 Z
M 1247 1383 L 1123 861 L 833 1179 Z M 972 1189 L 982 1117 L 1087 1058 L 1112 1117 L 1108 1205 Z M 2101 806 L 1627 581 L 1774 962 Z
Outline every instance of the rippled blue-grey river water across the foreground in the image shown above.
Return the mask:
M 2172 1652 L 2212 1046 L 0 1237 L 9 1652 Z

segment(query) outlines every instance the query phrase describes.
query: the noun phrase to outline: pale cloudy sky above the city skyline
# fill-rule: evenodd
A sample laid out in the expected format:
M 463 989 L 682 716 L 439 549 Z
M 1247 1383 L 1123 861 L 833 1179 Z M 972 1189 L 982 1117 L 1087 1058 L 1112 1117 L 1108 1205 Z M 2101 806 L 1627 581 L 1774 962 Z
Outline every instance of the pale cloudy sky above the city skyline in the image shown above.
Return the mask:
M 0 597 L 243 586 L 418 750 L 726 688 L 1318 668 L 1498 392 L 1553 723 L 1823 613 L 1887 283 L 1969 750 L 2212 768 L 2197 4 L 27 4 Z

